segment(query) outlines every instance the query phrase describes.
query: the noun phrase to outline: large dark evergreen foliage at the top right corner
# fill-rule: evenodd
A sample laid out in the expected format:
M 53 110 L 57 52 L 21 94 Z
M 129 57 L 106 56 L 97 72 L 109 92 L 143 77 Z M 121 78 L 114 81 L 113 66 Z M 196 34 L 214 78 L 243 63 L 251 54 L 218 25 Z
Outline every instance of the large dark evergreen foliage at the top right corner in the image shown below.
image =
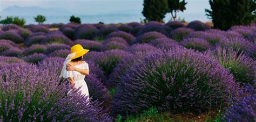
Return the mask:
M 206 15 L 215 28 L 228 30 L 235 25 L 249 25 L 256 20 L 255 0 L 210 0 L 211 10 Z

